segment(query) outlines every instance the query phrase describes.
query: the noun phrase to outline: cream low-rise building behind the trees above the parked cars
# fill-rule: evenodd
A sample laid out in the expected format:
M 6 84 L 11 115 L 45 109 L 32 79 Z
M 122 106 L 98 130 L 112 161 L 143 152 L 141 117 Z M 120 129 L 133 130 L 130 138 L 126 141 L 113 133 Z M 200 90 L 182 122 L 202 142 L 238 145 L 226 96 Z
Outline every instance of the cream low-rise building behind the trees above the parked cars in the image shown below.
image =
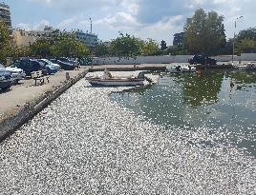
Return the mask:
M 14 43 L 18 47 L 22 47 L 22 46 L 29 47 L 39 39 L 51 38 L 52 34 L 53 34 L 53 29 L 30 30 L 30 31 L 15 29 L 12 32 Z

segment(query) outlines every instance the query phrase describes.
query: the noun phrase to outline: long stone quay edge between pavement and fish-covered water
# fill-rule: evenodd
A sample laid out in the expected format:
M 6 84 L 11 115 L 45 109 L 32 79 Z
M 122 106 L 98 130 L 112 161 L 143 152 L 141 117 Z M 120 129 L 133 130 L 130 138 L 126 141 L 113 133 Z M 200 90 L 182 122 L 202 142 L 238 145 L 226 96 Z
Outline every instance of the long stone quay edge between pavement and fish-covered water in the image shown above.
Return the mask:
M 53 90 L 53 92 L 44 94 L 39 100 L 23 107 L 14 116 L 0 123 L 0 142 L 9 137 L 15 130 L 22 127 L 25 123 L 31 120 L 43 108 L 49 106 L 53 100 L 59 97 L 67 89 L 71 88 L 76 82 L 81 80 L 88 73 L 89 69 L 79 73 L 75 78 L 70 79 L 60 88 Z

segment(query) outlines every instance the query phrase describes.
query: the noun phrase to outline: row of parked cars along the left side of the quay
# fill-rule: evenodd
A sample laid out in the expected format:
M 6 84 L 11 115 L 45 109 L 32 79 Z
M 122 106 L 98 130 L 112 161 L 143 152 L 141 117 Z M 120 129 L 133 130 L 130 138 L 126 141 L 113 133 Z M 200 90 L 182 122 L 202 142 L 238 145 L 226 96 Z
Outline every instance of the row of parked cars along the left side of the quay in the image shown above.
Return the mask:
M 32 59 L 21 58 L 11 63 L 9 67 L 0 64 L 0 88 L 11 88 L 13 83 L 26 76 L 31 76 L 33 71 L 43 70 L 43 73 L 54 74 L 59 69 L 72 70 L 75 69 L 77 63 L 65 57 L 54 59 Z

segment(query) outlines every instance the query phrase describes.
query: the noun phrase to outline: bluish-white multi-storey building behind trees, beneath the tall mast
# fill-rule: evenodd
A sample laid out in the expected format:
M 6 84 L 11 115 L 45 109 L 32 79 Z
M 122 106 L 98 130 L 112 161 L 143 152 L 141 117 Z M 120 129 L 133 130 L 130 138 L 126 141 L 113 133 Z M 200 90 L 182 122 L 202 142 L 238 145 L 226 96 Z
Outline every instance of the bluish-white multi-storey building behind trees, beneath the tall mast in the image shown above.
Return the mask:
M 80 29 L 75 31 L 76 38 L 84 43 L 87 47 L 96 47 L 98 45 L 97 35 L 94 33 L 84 32 Z

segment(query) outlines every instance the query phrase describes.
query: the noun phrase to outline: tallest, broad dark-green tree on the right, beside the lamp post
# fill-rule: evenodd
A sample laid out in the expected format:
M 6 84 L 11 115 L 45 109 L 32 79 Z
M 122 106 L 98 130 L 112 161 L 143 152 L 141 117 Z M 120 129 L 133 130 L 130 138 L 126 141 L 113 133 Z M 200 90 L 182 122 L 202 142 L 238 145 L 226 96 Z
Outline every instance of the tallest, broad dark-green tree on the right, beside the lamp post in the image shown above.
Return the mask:
M 217 54 L 225 45 L 224 16 L 196 10 L 184 25 L 184 42 L 191 54 Z

